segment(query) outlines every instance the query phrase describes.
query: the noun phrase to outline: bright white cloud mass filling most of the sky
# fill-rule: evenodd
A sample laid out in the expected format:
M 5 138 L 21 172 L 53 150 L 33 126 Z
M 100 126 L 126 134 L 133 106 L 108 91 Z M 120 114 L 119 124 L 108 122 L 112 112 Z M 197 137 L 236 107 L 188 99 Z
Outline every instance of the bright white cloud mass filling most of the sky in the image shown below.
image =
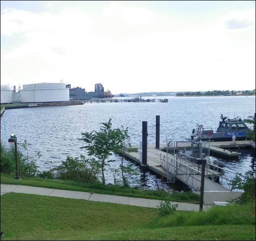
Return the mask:
M 246 38 L 209 26 L 175 28 L 179 18 L 172 16 L 165 18 L 167 27 L 156 13 L 115 2 L 93 16 L 71 9 L 58 15 L 9 9 L 1 15 L 1 34 L 16 38 L 19 32 L 26 42 L 17 38 L 18 46 L 1 54 L 1 81 L 18 86 L 63 79 L 86 90 L 101 82 L 113 93 L 134 93 L 241 89 L 243 79 L 242 89 L 252 89 L 250 32 Z

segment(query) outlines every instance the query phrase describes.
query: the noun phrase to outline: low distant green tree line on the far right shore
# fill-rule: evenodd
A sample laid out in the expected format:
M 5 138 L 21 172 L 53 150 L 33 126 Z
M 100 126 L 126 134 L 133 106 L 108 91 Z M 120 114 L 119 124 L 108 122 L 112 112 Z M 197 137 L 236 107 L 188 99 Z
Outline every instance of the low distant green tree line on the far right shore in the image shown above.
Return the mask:
M 242 91 L 236 91 L 236 90 L 212 90 L 212 91 L 186 91 L 186 92 L 178 92 L 176 94 L 177 96 L 218 96 L 218 95 L 255 95 L 255 89 L 254 90 L 242 90 Z

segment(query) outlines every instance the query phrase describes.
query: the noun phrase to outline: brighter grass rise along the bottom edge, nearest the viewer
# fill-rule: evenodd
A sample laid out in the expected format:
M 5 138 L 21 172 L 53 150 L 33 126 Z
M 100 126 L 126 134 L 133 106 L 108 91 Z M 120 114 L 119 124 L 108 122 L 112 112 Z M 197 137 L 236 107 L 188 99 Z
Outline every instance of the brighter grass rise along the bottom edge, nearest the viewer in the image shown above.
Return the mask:
M 250 225 L 191 226 L 116 231 L 110 234 L 74 237 L 73 240 L 255 240 L 255 227 Z

